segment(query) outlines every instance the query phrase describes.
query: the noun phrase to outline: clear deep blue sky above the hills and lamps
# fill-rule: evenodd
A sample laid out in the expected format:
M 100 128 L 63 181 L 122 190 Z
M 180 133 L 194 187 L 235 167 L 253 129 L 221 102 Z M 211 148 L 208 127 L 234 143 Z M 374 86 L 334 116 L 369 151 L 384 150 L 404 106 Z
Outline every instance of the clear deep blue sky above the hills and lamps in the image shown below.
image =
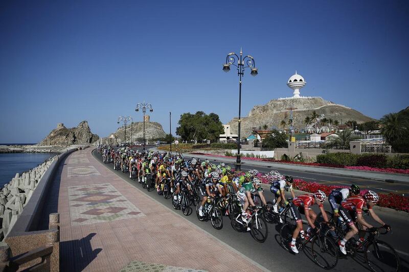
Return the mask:
M 242 115 L 302 95 L 380 118 L 408 106 L 407 1 L 3 1 L 0 142 L 38 142 L 58 122 L 107 136 L 137 103 L 173 133 L 180 114 L 237 116 L 238 78 L 226 54 L 252 55 Z

